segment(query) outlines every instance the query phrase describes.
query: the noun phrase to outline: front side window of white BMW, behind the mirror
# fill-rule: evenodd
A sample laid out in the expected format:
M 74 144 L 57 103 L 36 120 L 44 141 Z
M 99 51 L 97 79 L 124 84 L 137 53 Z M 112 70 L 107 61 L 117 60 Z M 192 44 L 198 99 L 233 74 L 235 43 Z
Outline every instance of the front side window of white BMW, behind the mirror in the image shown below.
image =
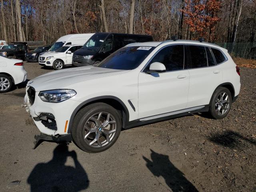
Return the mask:
M 166 71 L 183 70 L 184 46 L 172 45 L 160 50 L 151 60 L 150 64 L 160 62 L 164 64 Z

